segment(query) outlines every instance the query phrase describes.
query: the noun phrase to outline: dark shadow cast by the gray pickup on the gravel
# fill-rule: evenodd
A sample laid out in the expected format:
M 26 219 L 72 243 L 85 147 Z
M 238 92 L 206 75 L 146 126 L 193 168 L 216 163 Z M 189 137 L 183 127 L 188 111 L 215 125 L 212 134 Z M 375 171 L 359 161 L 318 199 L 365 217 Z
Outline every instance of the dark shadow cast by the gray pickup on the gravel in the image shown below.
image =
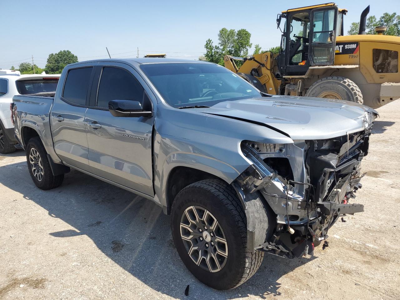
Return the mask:
M 13 176 L 6 175 L 10 171 Z M 66 174 L 59 188 L 42 191 L 34 186 L 26 162 L 1 166 L 0 182 L 40 205 L 51 218 L 60 218 L 75 228 L 52 232 L 51 227 L 44 227 L 48 234 L 60 239 L 88 236 L 132 276 L 174 298 L 278 296 L 280 278 L 310 261 L 266 255 L 260 270 L 245 284 L 234 290 L 217 291 L 196 280 L 186 269 L 172 242 L 170 217 L 153 202 L 77 171 Z M 188 297 L 184 295 L 187 285 Z

